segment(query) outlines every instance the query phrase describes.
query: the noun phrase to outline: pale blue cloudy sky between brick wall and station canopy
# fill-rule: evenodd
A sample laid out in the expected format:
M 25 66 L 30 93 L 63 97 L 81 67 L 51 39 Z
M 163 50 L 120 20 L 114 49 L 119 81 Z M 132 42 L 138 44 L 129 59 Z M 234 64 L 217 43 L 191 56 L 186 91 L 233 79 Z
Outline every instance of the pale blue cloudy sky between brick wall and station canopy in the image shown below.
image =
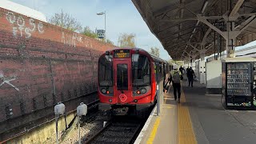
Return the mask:
M 10 0 L 46 14 L 50 18 L 56 13 L 71 14 L 82 26 L 91 30 L 104 30 L 104 15 L 97 13 L 106 10 L 106 38 L 118 46 L 118 36 L 122 33 L 135 34 L 136 46 L 147 51 L 150 47 L 160 49 L 160 57 L 169 60 L 170 56 L 158 38 L 150 32 L 146 22 L 138 13 L 131 0 Z

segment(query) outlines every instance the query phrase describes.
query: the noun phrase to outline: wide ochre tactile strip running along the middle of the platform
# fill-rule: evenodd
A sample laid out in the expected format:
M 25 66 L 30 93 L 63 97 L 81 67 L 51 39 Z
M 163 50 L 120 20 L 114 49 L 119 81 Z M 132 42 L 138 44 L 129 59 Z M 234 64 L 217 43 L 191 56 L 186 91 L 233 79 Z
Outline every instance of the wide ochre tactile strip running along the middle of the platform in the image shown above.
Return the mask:
M 179 144 L 196 144 L 198 143 L 190 119 L 190 112 L 187 106 L 182 103 L 186 102 L 185 94 L 182 90 L 181 103 L 178 104 L 178 143 Z

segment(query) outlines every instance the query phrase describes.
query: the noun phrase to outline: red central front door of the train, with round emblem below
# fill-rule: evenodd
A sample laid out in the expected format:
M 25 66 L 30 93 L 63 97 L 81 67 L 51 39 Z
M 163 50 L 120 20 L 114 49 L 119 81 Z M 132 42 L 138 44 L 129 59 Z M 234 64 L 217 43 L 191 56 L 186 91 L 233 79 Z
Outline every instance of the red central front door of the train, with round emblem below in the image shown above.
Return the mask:
M 133 102 L 130 59 L 114 61 L 114 97 L 118 103 Z

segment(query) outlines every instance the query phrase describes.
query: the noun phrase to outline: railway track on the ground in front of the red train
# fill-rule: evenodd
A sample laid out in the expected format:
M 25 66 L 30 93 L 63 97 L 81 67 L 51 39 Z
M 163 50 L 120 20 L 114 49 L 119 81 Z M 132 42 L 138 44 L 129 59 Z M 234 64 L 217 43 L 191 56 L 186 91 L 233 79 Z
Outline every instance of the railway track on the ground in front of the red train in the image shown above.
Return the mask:
M 115 117 L 102 130 L 94 134 L 86 143 L 90 144 L 130 144 L 142 129 L 144 119 L 134 117 Z

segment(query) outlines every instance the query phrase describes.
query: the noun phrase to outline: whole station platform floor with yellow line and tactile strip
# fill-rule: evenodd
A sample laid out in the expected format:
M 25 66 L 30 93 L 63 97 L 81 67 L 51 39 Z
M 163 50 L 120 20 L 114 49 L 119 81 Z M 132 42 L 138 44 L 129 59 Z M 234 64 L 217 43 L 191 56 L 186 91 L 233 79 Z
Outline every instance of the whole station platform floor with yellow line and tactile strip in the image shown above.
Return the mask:
M 181 102 L 170 86 L 160 114 L 156 108 L 134 143 L 255 143 L 256 111 L 224 110 L 221 95 L 207 95 L 206 86 L 182 82 Z

